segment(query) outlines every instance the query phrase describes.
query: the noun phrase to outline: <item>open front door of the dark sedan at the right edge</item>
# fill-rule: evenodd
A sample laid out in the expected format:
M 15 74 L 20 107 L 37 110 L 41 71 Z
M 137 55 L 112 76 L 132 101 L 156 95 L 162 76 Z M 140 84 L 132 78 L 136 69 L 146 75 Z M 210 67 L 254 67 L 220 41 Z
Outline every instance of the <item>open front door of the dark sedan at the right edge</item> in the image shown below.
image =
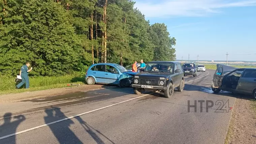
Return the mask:
M 213 76 L 212 86 L 213 88 L 219 88 L 222 84 L 223 77 L 230 73 L 233 70 L 236 70 L 235 67 L 230 67 L 222 64 L 217 64 L 217 69 Z

